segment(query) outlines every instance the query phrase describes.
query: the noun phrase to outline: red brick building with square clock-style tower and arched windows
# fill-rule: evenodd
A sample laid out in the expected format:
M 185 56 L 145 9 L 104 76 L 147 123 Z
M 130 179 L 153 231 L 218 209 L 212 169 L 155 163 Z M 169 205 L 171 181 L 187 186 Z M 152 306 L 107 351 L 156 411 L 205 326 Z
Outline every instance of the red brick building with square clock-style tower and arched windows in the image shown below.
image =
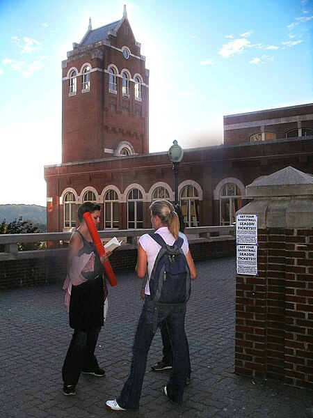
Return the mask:
M 150 228 L 149 206 L 174 201 L 168 151 L 149 153 L 149 71 L 127 19 L 88 31 L 63 61 L 62 164 L 45 167 L 47 231 L 70 231 L 83 201 L 101 229 Z M 313 174 L 313 105 L 224 117 L 225 144 L 184 150 L 179 203 L 187 226 L 227 225 L 246 185 L 291 165 Z

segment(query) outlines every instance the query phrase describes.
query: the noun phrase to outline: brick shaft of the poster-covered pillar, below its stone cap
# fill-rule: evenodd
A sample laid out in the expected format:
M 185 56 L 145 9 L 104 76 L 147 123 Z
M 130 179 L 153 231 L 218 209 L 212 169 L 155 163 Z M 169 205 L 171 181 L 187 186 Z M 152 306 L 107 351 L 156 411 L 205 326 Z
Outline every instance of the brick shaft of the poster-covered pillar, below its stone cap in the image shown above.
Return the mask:
M 258 276 L 237 276 L 236 373 L 313 389 L 313 229 L 258 231 Z

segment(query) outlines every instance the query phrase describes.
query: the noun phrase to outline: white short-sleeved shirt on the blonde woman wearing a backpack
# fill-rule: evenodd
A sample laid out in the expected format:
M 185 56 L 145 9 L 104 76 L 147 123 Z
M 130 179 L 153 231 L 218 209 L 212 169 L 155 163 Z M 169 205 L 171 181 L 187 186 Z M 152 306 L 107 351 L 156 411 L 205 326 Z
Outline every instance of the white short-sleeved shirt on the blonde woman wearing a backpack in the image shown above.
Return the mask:
M 161 226 L 161 228 L 157 229 L 157 231 L 155 232 L 161 235 L 161 237 L 166 242 L 166 244 L 168 245 L 174 244 L 175 238 L 170 233 L 167 226 Z M 189 251 L 188 240 L 184 233 L 179 232 L 179 236 L 182 237 L 184 240 L 184 243 L 182 245 L 182 250 L 184 251 L 184 254 L 186 255 Z M 147 233 L 145 233 L 145 235 L 142 235 L 141 238 L 139 238 L 138 242 L 141 245 L 141 247 L 143 247 L 143 249 L 145 250 L 147 254 L 147 273 L 150 279 L 152 269 L 154 266 L 154 261 L 157 258 L 157 255 L 159 254 L 161 245 L 159 245 L 156 241 L 154 241 L 154 239 L 151 238 L 150 235 Z M 145 285 L 145 294 L 150 295 L 149 280 L 147 281 L 147 284 Z

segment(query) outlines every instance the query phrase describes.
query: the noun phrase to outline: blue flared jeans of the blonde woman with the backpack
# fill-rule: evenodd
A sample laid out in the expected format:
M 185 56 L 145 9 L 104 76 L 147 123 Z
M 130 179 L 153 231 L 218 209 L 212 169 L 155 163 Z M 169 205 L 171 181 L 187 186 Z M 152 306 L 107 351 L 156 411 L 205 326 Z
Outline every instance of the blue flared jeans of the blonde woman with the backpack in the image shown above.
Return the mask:
M 139 318 L 133 346 L 131 371 L 118 397 L 118 405 L 128 410 L 139 408 L 143 378 L 147 366 L 147 354 L 154 337 L 154 313 L 156 309 L 150 296 L 146 295 L 141 317 Z M 168 397 L 173 403 L 183 401 L 186 376 L 188 374 L 188 353 L 185 343 L 186 304 L 181 306 L 159 307 L 158 325 L 166 321 L 170 343 L 172 346 L 172 370 L 170 380 L 166 385 Z

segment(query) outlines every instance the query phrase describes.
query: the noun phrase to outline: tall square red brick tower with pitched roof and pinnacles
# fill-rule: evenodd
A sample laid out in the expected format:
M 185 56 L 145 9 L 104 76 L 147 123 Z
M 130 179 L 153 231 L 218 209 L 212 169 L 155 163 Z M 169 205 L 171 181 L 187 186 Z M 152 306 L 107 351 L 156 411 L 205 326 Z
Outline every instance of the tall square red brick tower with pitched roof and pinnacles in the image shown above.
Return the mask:
M 88 31 L 63 68 L 62 162 L 149 153 L 149 70 L 127 19 Z

